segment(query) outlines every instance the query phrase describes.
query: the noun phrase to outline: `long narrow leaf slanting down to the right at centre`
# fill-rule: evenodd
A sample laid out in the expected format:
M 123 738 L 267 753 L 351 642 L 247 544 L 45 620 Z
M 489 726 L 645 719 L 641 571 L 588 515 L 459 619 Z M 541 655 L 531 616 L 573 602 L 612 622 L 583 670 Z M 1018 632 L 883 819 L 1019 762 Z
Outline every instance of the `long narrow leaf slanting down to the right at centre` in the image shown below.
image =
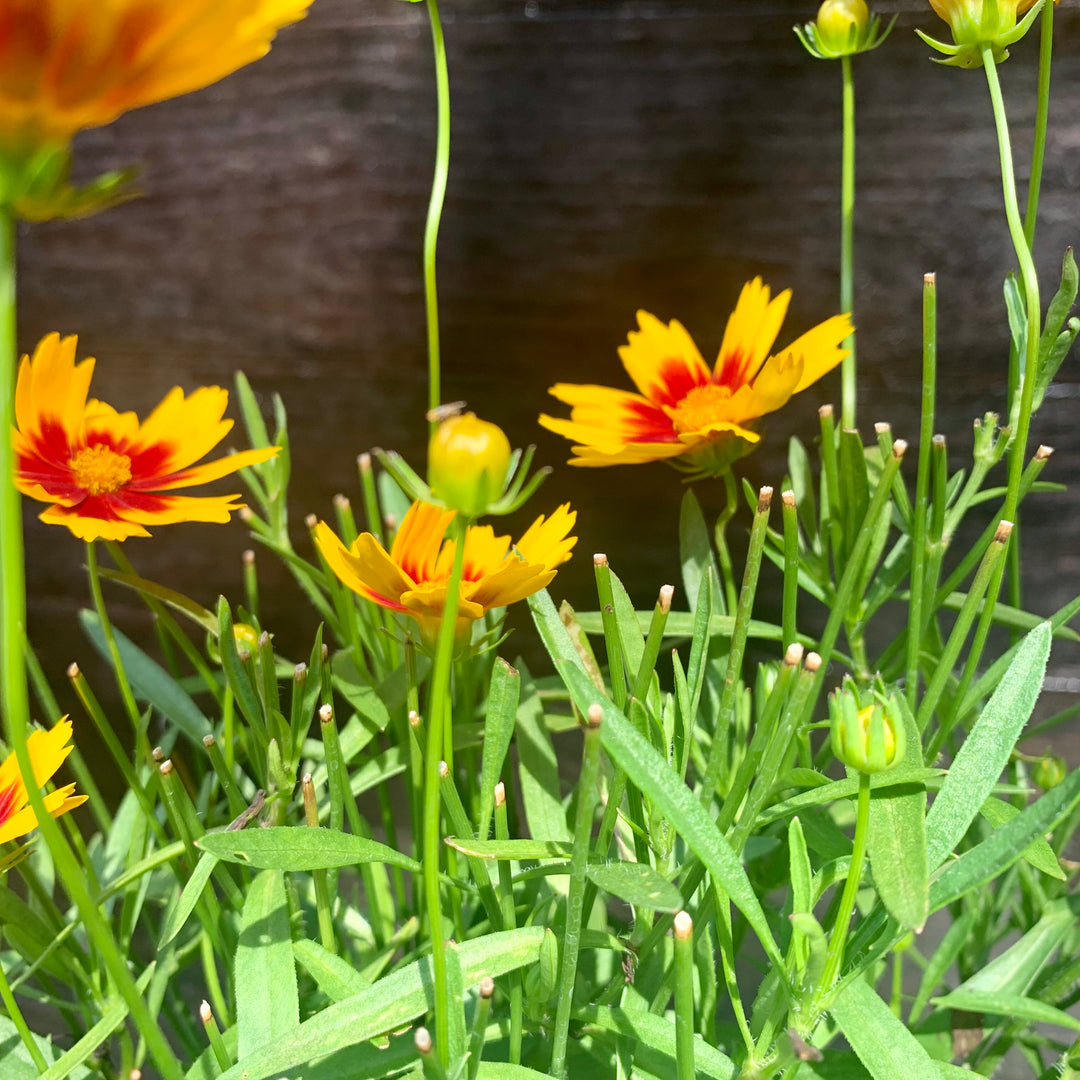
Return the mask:
M 780 949 L 739 856 L 731 850 L 724 834 L 702 809 L 690 788 L 612 702 L 596 700 L 599 697 L 596 688 L 580 669 L 566 663 L 556 666 L 583 714 L 593 704 L 603 708 L 600 741 L 608 756 L 667 818 L 714 880 L 724 887 L 731 902 L 746 917 L 769 958 L 778 967 L 782 967 Z

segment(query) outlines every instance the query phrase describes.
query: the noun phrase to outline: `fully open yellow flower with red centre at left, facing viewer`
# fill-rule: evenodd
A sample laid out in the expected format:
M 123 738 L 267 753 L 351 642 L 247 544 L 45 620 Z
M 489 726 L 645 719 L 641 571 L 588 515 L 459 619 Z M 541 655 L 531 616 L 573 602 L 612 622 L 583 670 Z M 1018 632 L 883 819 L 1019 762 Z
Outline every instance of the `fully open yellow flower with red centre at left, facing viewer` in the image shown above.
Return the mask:
M 50 503 L 41 519 L 66 525 L 81 540 L 149 536 L 147 526 L 228 522 L 239 495 L 184 496 L 273 457 L 276 446 L 195 462 L 232 428 L 229 392 L 174 388 L 141 423 L 91 399 L 94 361 L 76 364 L 76 338 L 50 334 L 24 356 L 15 388 L 15 486 Z

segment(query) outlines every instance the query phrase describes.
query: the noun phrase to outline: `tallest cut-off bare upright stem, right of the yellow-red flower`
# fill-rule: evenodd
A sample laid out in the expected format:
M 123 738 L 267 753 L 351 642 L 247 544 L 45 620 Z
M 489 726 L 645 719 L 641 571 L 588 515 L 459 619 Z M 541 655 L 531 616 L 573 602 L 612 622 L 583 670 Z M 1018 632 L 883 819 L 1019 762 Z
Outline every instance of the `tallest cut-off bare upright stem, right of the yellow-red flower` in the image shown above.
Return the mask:
M 904 691 L 915 708 L 919 686 L 919 645 L 927 566 L 927 502 L 930 495 L 930 445 L 934 434 L 934 389 L 937 383 L 937 278 L 922 279 L 922 421 L 919 429 L 919 473 L 912 514 L 912 590 L 907 608 L 907 667 Z

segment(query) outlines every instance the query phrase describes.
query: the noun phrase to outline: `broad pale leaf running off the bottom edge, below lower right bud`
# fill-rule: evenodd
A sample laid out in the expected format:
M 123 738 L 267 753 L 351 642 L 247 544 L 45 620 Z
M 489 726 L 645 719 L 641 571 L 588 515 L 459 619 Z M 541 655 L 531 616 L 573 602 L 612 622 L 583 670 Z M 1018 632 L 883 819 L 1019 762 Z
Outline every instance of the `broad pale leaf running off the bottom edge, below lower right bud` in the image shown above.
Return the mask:
M 922 1043 L 862 978 L 843 988 L 832 1012 L 874 1080 L 939 1080 L 936 1063 Z

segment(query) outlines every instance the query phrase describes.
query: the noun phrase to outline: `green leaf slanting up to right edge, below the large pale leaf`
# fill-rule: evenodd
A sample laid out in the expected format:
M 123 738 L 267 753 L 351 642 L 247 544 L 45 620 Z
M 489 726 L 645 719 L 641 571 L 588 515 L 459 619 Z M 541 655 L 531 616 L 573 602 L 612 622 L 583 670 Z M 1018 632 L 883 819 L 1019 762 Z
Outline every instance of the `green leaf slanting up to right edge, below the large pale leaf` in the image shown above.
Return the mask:
M 1007 870 L 1037 837 L 1055 828 L 1080 802 L 1080 769 L 1026 807 L 993 836 L 964 852 L 930 886 L 930 910 L 993 881 Z

